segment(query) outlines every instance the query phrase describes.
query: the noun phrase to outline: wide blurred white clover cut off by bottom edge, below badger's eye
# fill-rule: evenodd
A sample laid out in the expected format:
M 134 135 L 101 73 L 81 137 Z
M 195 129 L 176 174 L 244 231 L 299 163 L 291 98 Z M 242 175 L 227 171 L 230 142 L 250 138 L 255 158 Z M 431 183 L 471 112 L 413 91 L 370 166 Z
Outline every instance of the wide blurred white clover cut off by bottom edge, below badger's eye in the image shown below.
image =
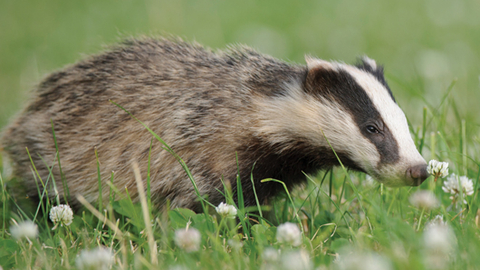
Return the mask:
M 357 251 L 345 248 L 335 261 L 336 269 L 340 270 L 390 270 L 392 263 L 387 258 L 374 252 Z

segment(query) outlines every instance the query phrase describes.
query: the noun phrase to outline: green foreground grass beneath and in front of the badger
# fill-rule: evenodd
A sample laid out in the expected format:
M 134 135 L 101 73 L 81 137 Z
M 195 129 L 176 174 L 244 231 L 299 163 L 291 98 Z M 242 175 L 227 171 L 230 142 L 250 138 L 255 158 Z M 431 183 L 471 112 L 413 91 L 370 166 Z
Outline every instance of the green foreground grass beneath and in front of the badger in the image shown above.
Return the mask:
M 465 128 L 461 128 L 471 123 L 453 118 L 452 123 L 460 128 L 451 129 L 451 124 L 443 122 L 455 110 L 447 90 L 444 102 L 437 107 L 425 107 L 424 122 L 421 128 L 412 128 L 412 134 L 417 144 L 423 145 L 424 155 L 448 161 L 451 172 L 473 179 L 474 193 L 466 196 L 467 204 L 450 206 L 450 194 L 441 188 L 444 179 L 434 182 L 431 177 L 419 188 L 390 189 L 369 182 L 363 174 L 337 168 L 308 176 L 305 188 L 287 190 L 270 206 L 258 205 L 268 212 L 268 218 L 259 216 L 257 207 L 236 205 L 237 218 L 225 219 L 208 202 L 204 204 L 204 212 L 198 214 L 188 209 L 169 209 L 168 205 L 156 209 L 147 203 L 145 195 L 140 196 L 141 203 L 134 203 L 110 186 L 112 199 L 102 204 L 97 202 L 95 207 L 79 198 L 85 207 L 75 213 L 73 223 L 52 230 L 54 224 L 48 219 L 48 212 L 58 205 L 58 199 L 40 203 L 39 215 L 28 213 L 15 205 L 11 190 L 2 179 L 0 265 L 4 269 L 75 268 L 82 252 L 106 247 L 114 254 L 114 269 L 298 269 L 302 263 L 308 267 L 305 269 L 351 269 L 348 268 L 351 263 L 366 269 L 370 260 L 384 264 L 387 269 L 430 269 L 434 264 L 425 261 L 430 258 L 425 242 L 426 226 L 441 215 L 455 235 L 451 243 L 440 242 L 446 246 L 448 253 L 444 255 L 449 258 L 438 259 L 442 269 L 475 269 L 480 260 L 476 256 L 480 251 L 477 214 L 480 164 L 478 156 L 466 151 L 471 149 L 469 145 L 476 146 L 478 142 L 472 142 Z M 153 132 L 152 136 L 161 140 Z M 170 149 L 166 144 L 165 148 Z M 172 154 L 175 155 L 173 151 Z M 177 159 L 184 165 L 180 157 Z M 137 183 L 141 183 L 138 167 L 134 171 Z M 42 185 L 52 184 L 40 176 L 38 180 Z M 440 200 L 440 206 L 425 210 L 412 205 L 409 198 L 418 189 L 431 190 Z M 139 186 L 139 190 L 144 188 Z M 149 192 L 147 188 L 146 193 Z M 232 204 L 228 187 L 225 194 L 226 201 Z M 113 197 L 123 199 L 113 200 Z M 240 196 L 238 201 L 242 199 Z M 38 238 L 16 240 L 10 235 L 12 221 L 26 219 L 37 224 L 40 234 Z M 276 229 L 285 222 L 298 224 L 301 245 L 291 246 L 277 240 Z M 200 232 L 199 250 L 186 252 L 175 243 L 175 231 L 186 227 Z M 272 252 L 277 259 L 272 259 Z M 348 260 L 355 256 L 362 259 Z

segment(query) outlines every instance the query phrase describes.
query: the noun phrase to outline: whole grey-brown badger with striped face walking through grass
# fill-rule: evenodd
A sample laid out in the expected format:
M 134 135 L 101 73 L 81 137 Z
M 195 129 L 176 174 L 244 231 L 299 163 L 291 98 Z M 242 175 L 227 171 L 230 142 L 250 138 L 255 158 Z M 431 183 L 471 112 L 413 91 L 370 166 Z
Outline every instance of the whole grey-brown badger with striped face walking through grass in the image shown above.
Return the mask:
M 237 190 L 237 177 L 249 206 L 254 189 L 260 202 L 283 190 L 262 179 L 291 187 L 340 162 L 387 186 L 420 185 L 426 162 L 383 67 L 368 57 L 357 65 L 305 60 L 291 64 L 240 45 L 212 51 L 178 38 L 129 39 L 46 77 L 4 129 L 3 152 L 30 197 L 38 197 L 38 177 L 54 179 L 63 195 L 64 177 L 71 204 L 76 195 L 94 202 L 100 174 L 105 201 L 113 173 L 135 199 L 137 163 L 142 181 L 150 173 L 154 203 L 199 210 L 177 159 L 112 100 L 183 159 L 213 204 L 225 200 L 223 183 Z

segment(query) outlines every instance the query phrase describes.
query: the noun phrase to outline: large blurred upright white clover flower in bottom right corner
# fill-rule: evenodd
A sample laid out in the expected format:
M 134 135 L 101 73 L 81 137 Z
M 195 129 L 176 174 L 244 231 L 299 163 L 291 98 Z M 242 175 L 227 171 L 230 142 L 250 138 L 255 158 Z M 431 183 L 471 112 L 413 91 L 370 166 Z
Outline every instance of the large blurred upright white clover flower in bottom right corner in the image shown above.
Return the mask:
M 445 269 L 453 255 L 456 237 L 448 225 L 432 224 L 423 233 L 424 262 L 430 269 Z

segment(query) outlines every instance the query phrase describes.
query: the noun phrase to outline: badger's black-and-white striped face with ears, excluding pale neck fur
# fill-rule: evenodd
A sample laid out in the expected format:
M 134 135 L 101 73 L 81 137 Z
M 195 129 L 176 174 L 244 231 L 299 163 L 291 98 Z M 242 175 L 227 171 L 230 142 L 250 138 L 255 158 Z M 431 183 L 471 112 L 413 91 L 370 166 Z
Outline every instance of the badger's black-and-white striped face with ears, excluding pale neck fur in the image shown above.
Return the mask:
M 426 162 L 415 147 L 382 67 L 366 57 L 357 66 L 316 59 L 307 62 L 306 91 L 321 107 L 329 108 L 321 126 L 333 148 L 387 185 L 418 185 L 425 180 Z M 338 109 L 328 112 L 331 108 Z

